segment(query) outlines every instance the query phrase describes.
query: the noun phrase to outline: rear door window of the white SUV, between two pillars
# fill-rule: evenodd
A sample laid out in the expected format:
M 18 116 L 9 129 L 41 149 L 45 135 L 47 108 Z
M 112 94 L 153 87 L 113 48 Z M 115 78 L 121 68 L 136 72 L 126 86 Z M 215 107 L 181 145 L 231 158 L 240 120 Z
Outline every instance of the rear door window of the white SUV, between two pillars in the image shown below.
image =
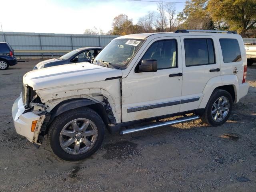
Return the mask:
M 186 66 L 207 65 L 215 63 L 212 39 L 184 39 Z

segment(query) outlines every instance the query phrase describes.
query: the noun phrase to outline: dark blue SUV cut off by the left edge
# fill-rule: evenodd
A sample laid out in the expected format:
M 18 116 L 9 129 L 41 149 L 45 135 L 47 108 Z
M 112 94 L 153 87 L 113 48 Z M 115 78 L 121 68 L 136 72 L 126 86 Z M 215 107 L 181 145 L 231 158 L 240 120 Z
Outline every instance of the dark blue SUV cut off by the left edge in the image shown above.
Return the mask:
M 6 70 L 17 63 L 12 47 L 8 43 L 0 42 L 0 70 Z

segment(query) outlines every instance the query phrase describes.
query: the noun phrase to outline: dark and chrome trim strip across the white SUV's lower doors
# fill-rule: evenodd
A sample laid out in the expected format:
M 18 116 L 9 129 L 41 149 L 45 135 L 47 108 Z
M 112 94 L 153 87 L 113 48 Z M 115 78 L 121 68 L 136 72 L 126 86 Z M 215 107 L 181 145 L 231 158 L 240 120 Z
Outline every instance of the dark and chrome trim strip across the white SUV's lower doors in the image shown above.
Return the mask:
M 179 105 L 179 104 L 184 104 L 184 103 L 195 102 L 195 101 L 198 101 L 199 99 L 200 99 L 200 97 L 195 97 L 195 98 L 188 98 L 188 99 L 182 99 L 182 100 L 176 100 L 176 101 L 162 102 L 162 103 L 157 103 L 157 104 L 152 104 L 152 105 L 129 107 L 129 108 L 127 108 L 127 112 L 130 113 L 130 112 L 143 111 L 143 110 L 155 109 L 155 108 L 160 108 L 160 107 Z

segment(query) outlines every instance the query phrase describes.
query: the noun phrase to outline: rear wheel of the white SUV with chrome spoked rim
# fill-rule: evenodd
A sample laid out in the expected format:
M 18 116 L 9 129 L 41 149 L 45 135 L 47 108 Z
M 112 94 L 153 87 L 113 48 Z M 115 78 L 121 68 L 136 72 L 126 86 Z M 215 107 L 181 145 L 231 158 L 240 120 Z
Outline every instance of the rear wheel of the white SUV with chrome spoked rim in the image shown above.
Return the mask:
M 220 101 L 220 105 L 218 101 Z M 226 101 L 226 103 L 224 103 L 224 101 Z M 222 89 L 216 89 L 210 96 L 204 113 L 201 116 L 201 120 L 210 126 L 220 126 L 228 120 L 232 107 L 233 100 L 230 93 Z M 212 112 L 214 113 L 212 114 Z

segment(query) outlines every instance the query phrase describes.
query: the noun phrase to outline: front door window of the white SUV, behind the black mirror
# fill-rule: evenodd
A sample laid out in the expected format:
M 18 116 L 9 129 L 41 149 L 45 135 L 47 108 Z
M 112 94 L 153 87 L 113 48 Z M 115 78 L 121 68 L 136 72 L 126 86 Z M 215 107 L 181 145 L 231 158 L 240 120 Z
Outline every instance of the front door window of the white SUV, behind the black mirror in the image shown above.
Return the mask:
M 142 60 L 157 60 L 158 69 L 177 67 L 176 40 L 161 40 L 154 42 L 146 51 Z

